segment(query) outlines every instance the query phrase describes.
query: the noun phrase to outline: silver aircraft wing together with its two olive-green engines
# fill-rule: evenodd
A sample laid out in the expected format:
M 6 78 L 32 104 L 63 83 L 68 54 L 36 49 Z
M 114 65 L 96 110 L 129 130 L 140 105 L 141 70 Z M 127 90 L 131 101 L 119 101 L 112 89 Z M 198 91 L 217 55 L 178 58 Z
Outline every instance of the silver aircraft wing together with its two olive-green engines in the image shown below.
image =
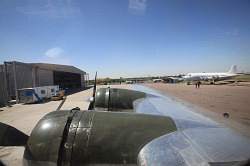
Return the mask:
M 89 111 L 51 112 L 30 136 L 0 123 L 0 145 L 25 146 L 29 166 L 249 164 L 249 138 L 150 88 L 133 89 L 99 89 Z

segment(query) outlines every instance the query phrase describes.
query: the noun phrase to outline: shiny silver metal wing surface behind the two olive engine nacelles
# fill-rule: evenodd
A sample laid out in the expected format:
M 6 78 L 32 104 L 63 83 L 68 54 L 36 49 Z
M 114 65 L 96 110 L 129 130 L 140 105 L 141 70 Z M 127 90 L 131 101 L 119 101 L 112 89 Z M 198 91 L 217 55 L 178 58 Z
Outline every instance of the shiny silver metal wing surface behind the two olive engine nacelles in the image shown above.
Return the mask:
M 147 93 L 145 99 L 136 101 L 136 112 L 171 117 L 177 126 L 177 131 L 145 145 L 138 155 L 138 165 L 231 166 L 249 161 L 249 138 L 152 89 L 134 89 Z

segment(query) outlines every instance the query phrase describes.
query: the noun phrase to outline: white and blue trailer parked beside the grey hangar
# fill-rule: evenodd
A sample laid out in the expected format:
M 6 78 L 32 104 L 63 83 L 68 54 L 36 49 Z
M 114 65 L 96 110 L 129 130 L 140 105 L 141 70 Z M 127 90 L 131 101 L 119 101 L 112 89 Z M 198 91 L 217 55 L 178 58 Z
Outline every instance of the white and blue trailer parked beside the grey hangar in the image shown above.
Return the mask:
M 25 104 L 37 103 L 57 96 L 58 93 L 58 85 L 18 89 L 18 102 Z

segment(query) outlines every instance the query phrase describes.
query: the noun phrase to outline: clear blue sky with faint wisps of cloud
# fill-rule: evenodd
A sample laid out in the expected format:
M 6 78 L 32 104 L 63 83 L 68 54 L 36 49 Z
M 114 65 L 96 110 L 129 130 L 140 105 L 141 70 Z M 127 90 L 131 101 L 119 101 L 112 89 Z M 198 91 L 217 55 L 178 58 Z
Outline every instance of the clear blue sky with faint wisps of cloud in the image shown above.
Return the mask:
M 249 0 L 1 0 L 0 63 L 100 77 L 250 71 Z

